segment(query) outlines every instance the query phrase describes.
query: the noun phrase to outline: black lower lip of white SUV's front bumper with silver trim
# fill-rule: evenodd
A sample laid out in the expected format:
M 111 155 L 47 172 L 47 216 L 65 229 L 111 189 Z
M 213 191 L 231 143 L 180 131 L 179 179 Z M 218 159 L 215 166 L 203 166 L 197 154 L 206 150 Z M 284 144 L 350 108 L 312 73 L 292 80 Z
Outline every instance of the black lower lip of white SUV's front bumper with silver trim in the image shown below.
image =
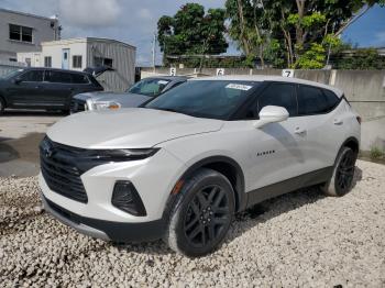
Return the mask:
M 91 219 L 78 215 L 55 204 L 46 199 L 43 193 L 41 198 L 45 211 L 63 224 L 95 239 L 113 242 L 146 242 L 161 239 L 165 231 L 165 221 L 163 219 L 142 223 L 121 223 Z

